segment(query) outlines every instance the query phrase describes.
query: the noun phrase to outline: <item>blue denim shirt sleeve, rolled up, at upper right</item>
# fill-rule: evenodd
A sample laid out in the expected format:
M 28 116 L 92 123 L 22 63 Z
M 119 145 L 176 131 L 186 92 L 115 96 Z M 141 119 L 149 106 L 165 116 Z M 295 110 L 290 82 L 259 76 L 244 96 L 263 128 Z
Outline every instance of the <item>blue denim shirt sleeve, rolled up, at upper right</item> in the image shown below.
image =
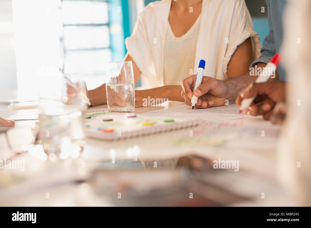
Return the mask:
M 275 53 L 280 51 L 283 41 L 283 13 L 287 0 L 266 0 L 268 6 L 269 34 L 262 42 L 261 56 L 252 62 L 249 67 L 253 67 L 258 62 L 268 63 Z M 285 69 L 282 62 L 276 69 L 281 81 L 286 80 Z

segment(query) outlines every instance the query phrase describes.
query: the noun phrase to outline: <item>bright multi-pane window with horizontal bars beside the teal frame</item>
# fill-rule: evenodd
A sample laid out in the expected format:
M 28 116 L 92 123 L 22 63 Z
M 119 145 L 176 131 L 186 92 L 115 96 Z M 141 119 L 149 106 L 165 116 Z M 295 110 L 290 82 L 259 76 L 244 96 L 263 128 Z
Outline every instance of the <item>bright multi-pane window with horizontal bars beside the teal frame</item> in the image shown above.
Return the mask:
M 106 63 L 112 60 L 108 2 L 62 0 L 61 10 L 65 74 L 93 89 L 105 82 Z

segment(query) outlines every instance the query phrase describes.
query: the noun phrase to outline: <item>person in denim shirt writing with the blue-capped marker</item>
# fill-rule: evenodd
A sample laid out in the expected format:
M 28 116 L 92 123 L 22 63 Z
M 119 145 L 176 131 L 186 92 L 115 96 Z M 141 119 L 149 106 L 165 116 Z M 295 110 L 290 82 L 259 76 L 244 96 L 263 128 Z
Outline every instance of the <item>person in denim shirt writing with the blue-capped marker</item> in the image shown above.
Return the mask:
M 258 60 L 255 60 L 250 67 L 256 67 L 257 69 L 263 68 L 272 59 L 272 57 L 279 51 L 282 40 L 283 40 L 283 23 L 282 16 L 286 6 L 286 0 L 266 0 L 268 6 L 268 24 L 269 24 L 269 34 L 263 41 L 263 47 L 261 49 L 261 56 Z M 221 106 L 224 105 L 226 101 L 238 100 L 238 95 L 245 89 L 251 88 L 255 82 L 258 74 L 253 75 L 252 71 L 232 78 L 226 82 L 203 76 L 202 84 L 197 87 L 197 89 L 192 92 L 195 83 L 195 75 L 184 79 L 181 82 L 183 91 L 181 96 L 185 99 L 187 105 L 191 106 L 191 98 L 193 95 L 199 97 L 196 108 L 207 108 L 211 106 Z M 285 70 L 280 64 L 275 74 L 273 80 L 284 81 L 286 78 Z M 271 79 L 272 80 L 272 79 Z M 250 86 L 249 86 L 250 85 Z M 285 83 L 281 83 L 278 87 L 281 91 L 279 94 L 283 98 L 285 94 Z M 272 86 L 273 87 L 273 86 Z M 273 93 L 275 94 L 275 93 Z M 276 94 L 278 94 L 276 92 Z M 243 99 L 243 97 L 242 97 Z M 272 104 L 270 104 L 272 105 Z M 273 107 L 268 107 L 268 105 L 261 106 L 262 109 L 267 109 L 263 111 L 269 111 Z M 268 110 L 269 109 L 269 110 Z M 249 110 L 250 111 L 250 110 Z M 255 112 L 247 112 L 248 114 L 256 114 Z M 257 112 L 258 113 L 258 112 Z

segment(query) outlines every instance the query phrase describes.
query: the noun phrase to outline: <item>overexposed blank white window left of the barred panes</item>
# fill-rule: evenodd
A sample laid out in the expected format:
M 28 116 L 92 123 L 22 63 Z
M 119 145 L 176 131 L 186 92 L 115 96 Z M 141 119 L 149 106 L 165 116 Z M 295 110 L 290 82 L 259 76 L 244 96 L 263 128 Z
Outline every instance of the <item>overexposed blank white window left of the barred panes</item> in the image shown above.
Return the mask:
M 12 0 L 18 101 L 34 101 L 57 83 L 62 36 L 60 0 Z

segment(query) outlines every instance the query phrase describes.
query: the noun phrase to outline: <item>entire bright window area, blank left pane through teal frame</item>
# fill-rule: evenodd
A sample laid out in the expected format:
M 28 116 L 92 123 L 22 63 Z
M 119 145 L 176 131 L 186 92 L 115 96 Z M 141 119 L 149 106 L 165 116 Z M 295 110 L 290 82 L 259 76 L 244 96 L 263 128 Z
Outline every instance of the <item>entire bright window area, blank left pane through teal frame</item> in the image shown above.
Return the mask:
M 58 91 L 49 81 L 58 84 L 62 62 L 65 74 L 84 80 L 88 89 L 104 83 L 106 64 L 122 61 L 125 55 L 124 37 L 130 34 L 129 26 L 124 26 L 129 20 L 128 1 L 137 0 L 12 0 L 12 12 L 11 0 L 7 1 L 1 4 L 7 19 L 0 21 L 0 34 L 6 33 L 2 37 L 10 64 L 4 65 L 11 80 L 2 92 L 11 100 L 18 88 L 18 101 L 33 101 L 42 91 Z M 136 14 L 131 15 L 136 20 Z M 9 26 L 14 35 L 6 32 Z

